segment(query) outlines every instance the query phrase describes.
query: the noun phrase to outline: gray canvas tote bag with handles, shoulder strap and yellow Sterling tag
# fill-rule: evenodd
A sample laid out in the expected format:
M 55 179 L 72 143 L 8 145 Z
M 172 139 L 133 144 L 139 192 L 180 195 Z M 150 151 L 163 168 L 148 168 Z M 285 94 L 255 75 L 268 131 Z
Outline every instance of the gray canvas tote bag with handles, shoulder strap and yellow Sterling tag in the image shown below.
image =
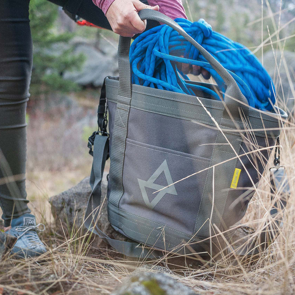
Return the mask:
M 120 76 L 105 78 L 99 130 L 89 138 L 85 226 L 127 256 L 207 251 L 210 237 L 244 216 L 287 115 L 276 106 L 250 108 L 230 73 L 176 22 L 153 10 L 139 15 L 171 26 L 199 50 L 227 85 L 224 101 L 131 85 L 131 40 L 120 37 Z M 111 239 L 96 226 L 108 156 L 108 220 L 135 242 Z

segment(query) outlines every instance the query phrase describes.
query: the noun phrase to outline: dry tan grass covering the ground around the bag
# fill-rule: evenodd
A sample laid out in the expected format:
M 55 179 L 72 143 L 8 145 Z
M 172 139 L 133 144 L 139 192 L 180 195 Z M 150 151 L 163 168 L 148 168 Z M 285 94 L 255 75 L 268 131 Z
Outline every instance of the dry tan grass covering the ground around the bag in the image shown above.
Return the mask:
M 276 30 L 279 31 L 279 27 Z M 271 39 L 267 42 L 271 42 Z M 283 44 L 280 42 L 273 46 L 274 56 L 277 51 L 283 51 Z M 291 89 L 291 84 L 294 83 L 291 70 L 289 77 Z M 278 87 L 279 80 L 279 75 L 276 74 L 275 84 Z M 292 96 L 295 97 L 295 93 L 292 93 Z M 75 120 L 73 117 L 70 122 Z M 41 238 L 49 251 L 38 260 L 22 261 L 9 258 L 0 262 L 0 293 L 110 294 L 125 276 L 145 264 L 149 264 L 151 269 L 153 265 L 173 268 L 177 280 L 200 294 L 295 293 L 295 121 L 292 117 L 289 117 L 281 135 L 282 164 L 286 167 L 292 194 L 285 210 L 280 236 L 252 260 L 241 258 L 233 263 L 233 260 L 223 256 L 213 261 L 213 264 L 204 262 L 198 263 L 198 266 L 193 266 L 189 258 L 184 266 L 180 265 L 179 260 L 172 259 L 169 255 L 153 261 L 123 259 L 108 247 L 93 248 L 89 237 L 83 235 L 81 229 L 69 229 L 69 233 L 64 235 L 56 234 L 46 199 L 72 186 L 90 171 L 90 159 L 85 154 L 85 149 L 81 156 L 80 148 L 84 144 L 83 140 L 81 141 L 81 128 L 75 126 L 77 125 L 68 126 L 65 122 L 61 124 L 61 121 L 50 123 L 50 120 L 42 119 L 36 125 L 32 123 L 30 127 L 36 138 L 29 138 L 29 153 L 32 154 L 28 164 L 28 192 L 33 212 L 46 224 L 46 231 L 41 234 Z M 34 132 L 34 128 L 39 132 Z M 40 132 L 40 129 L 43 132 Z M 67 132 L 68 130 L 73 133 Z M 51 137 L 48 137 L 48 134 L 51 134 Z M 69 136 L 68 140 L 58 137 L 58 134 L 66 134 Z M 77 141 L 73 143 L 73 140 Z M 43 146 L 34 150 L 36 141 L 42 142 Z M 69 159 L 75 161 L 69 165 Z M 67 168 L 64 169 L 64 166 Z M 265 173 L 267 171 L 268 169 Z M 258 229 L 258 233 L 261 226 L 269 220 L 269 199 L 269 183 L 262 180 L 242 220 L 244 224 Z

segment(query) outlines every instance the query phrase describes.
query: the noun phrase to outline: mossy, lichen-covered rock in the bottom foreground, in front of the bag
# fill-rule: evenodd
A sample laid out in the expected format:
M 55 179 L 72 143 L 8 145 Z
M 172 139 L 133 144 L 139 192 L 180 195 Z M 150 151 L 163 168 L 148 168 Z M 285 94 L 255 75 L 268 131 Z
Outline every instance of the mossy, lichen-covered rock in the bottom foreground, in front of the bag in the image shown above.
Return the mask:
M 196 295 L 183 283 L 162 272 L 132 273 L 112 295 Z

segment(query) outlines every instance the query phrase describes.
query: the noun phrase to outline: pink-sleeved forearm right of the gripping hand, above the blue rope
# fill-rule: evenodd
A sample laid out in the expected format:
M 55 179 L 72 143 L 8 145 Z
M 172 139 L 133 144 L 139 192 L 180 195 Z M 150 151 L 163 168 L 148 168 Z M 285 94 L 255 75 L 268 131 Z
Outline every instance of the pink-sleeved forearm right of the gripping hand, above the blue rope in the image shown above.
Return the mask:
M 159 11 L 172 19 L 187 18 L 181 0 L 148 0 L 148 4 L 159 5 Z

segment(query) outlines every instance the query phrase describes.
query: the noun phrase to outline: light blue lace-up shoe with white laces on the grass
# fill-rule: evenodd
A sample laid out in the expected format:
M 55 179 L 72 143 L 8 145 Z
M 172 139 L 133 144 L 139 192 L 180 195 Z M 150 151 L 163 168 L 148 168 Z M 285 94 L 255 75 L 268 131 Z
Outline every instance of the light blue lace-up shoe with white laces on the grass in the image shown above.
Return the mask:
M 11 254 L 27 258 L 39 256 L 46 252 L 44 244 L 40 241 L 37 232 L 44 231 L 45 225 L 36 225 L 36 218 L 32 214 L 23 214 L 11 220 L 11 229 L 6 233 L 18 238 Z

